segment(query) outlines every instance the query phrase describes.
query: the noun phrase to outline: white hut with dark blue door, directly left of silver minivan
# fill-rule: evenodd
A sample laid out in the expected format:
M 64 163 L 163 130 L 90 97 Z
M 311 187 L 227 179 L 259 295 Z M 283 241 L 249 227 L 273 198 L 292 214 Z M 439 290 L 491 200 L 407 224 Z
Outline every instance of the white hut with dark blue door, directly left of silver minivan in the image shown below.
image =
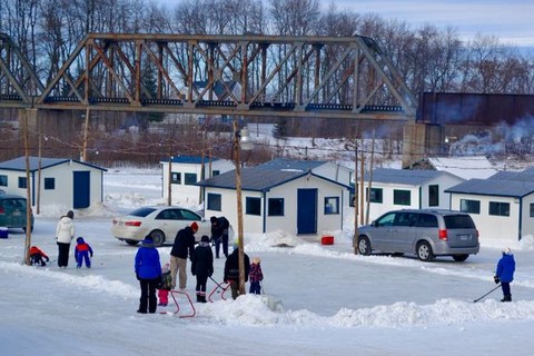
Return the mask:
M 245 234 L 283 230 L 319 235 L 343 229 L 350 191 L 348 180 L 348 171 L 325 161 L 277 159 L 243 168 Z M 224 215 L 236 229 L 235 170 L 199 181 L 198 186 L 205 190 L 205 216 Z

